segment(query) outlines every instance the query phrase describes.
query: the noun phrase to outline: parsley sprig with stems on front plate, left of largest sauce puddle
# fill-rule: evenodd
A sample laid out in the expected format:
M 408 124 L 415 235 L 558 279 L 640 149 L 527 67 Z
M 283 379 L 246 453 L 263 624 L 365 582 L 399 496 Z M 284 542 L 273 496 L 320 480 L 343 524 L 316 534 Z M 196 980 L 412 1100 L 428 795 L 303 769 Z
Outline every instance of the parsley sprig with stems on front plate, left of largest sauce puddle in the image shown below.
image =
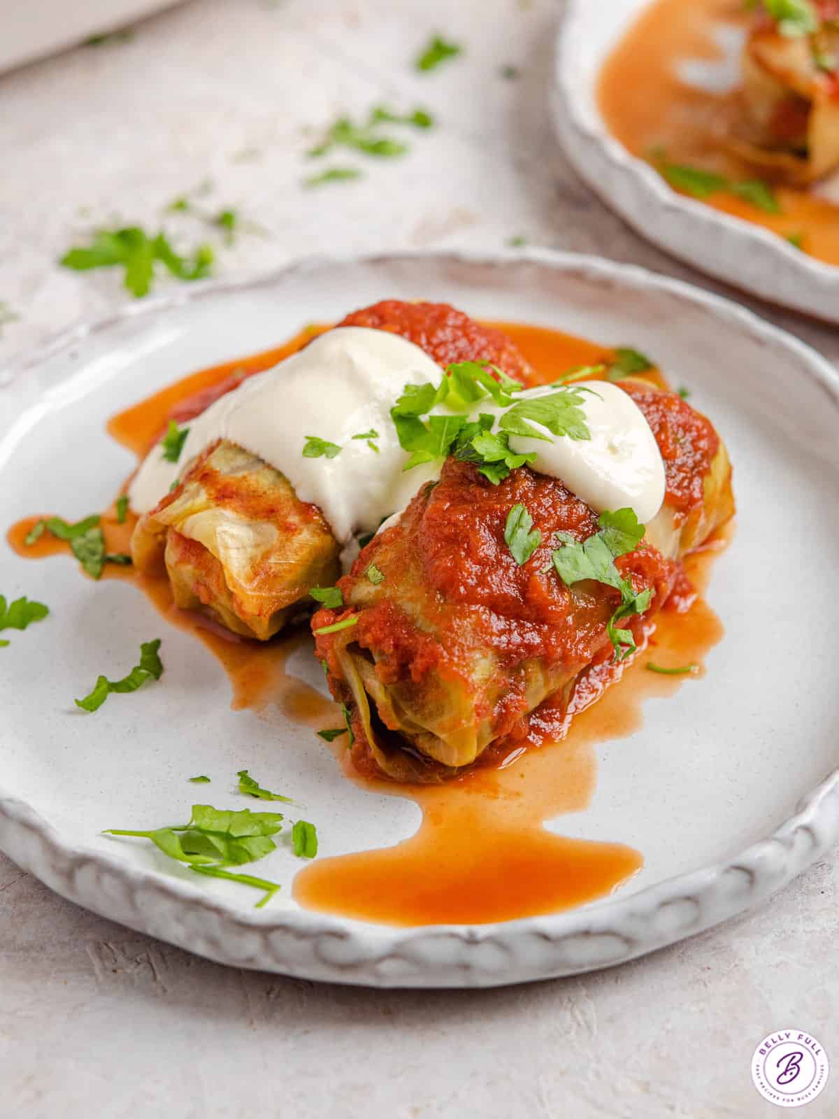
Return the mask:
M 192 805 L 189 824 L 150 831 L 109 828 L 104 834 L 150 839 L 164 855 L 186 863 L 198 874 L 264 890 L 265 896 L 257 902 L 260 908 L 280 885 L 247 874 L 233 874 L 226 867 L 254 863 L 276 850 L 271 837 L 282 830 L 282 821 L 280 812 L 252 812 L 249 808 L 234 812 L 210 805 Z

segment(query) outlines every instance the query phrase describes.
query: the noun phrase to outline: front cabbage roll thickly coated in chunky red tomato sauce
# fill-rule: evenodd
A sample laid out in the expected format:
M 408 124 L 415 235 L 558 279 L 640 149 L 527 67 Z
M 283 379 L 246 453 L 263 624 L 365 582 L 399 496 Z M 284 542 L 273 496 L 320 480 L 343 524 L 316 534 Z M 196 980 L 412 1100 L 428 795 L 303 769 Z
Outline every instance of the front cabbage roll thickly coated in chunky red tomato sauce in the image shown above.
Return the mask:
M 662 454 L 664 504 L 614 566 L 641 609 L 620 621 L 634 647 L 676 585 L 678 560 L 730 517 L 725 446 L 678 395 L 624 380 Z M 540 544 L 525 563 L 506 539 L 524 506 Z M 630 511 L 630 510 L 626 510 Z M 527 466 L 500 485 L 446 460 L 402 517 L 339 581 L 343 605 L 312 619 L 317 655 L 350 713 L 353 761 L 400 781 L 444 780 L 520 732 L 550 698 L 567 705 L 581 674 L 616 656 L 622 592 L 554 570 L 557 542 L 609 533 L 555 478 Z

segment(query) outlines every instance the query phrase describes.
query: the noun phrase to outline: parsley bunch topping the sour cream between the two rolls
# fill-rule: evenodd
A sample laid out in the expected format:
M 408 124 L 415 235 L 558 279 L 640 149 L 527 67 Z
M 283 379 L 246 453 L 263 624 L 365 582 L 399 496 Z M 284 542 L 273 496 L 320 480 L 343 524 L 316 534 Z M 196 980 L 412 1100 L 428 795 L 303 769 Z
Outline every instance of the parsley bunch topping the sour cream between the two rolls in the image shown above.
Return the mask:
M 481 361 L 447 366 L 436 386 L 405 385 L 390 410 L 399 445 L 411 455 L 403 470 L 453 454 L 474 462 L 479 472 L 497 486 L 511 470 L 536 459 L 535 451 L 516 453 L 509 443 L 510 435 L 550 440 L 532 423 L 547 427 L 554 435 L 591 438 L 582 410 L 585 389 L 558 387 L 544 396 L 517 399 L 515 394 L 522 387 L 501 369 Z M 471 412 L 481 401 L 490 399 L 506 410 L 498 417 L 498 431 L 493 431 L 496 416 L 489 413 L 479 413 L 477 420 L 471 420 L 469 412 L 432 414 L 440 404 Z

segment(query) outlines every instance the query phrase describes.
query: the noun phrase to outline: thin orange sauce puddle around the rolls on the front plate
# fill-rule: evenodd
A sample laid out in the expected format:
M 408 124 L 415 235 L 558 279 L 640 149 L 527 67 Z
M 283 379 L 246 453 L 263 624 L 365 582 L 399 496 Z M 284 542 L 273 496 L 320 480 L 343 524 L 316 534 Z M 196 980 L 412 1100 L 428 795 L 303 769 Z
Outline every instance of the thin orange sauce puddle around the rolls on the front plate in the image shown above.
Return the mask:
M 532 364 L 537 382 L 554 380 L 577 365 L 609 360 L 613 352 L 547 328 L 493 326 L 499 326 Z M 109 431 L 142 458 L 169 417 L 186 422 L 220 391 L 275 365 L 321 329 L 307 328 L 276 349 L 186 377 L 114 416 Z M 654 373 L 652 377 L 659 379 Z M 69 554 L 67 543 L 47 533 L 34 545 L 25 544 L 37 519 L 29 517 L 9 530 L 11 547 L 29 558 Z M 134 521 L 129 514 L 124 524 L 117 524 L 113 508 L 102 515 L 109 552 L 130 551 Z M 720 536 L 716 546 L 686 561 L 688 575 L 699 590 L 711 557 L 723 545 Z M 285 671 L 289 656 L 310 641 L 305 629 L 279 641 L 257 643 L 228 633 L 199 614 L 178 610 L 166 577 L 141 575 L 113 564 L 105 565 L 103 577 L 134 582 L 168 622 L 189 630 L 210 649 L 230 679 L 234 708 L 276 706 L 286 718 L 313 730 L 340 724 L 336 704 Z M 557 836 L 544 824 L 590 803 L 596 784 L 595 745 L 635 731 L 641 725 L 643 700 L 670 695 L 685 681 L 685 677 L 647 671 L 650 656 L 664 665 L 701 664 L 722 632 L 716 615 L 700 598 L 685 614 L 663 611 L 651 629 L 648 649 L 623 674 L 620 687 L 606 689 L 595 705 L 581 709 L 569 726 L 563 726 L 559 733 L 567 732 L 563 741 L 518 746 L 496 759 L 492 767 L 478 767 L 447 784 L 398 786 L 364 778 L 351 770 L 346 745 L 336 740 L 332 749 L 349 779 L 376 792 L 414 800 L 422 810 L 422 824 L 414 836 L 394 847 L 315 859 L 298 873 L 295 900 L 322 912 L 412 925 L 484 923 L 552 913 L 611 893 L 640 869 L 641 854 L 619 841 Z M 595 686 L 579 694 L 582 707 L 592 703 L 600 689 Z M 318 749 L 323 749 L 322 742 L 312 735 L 312 750 Z

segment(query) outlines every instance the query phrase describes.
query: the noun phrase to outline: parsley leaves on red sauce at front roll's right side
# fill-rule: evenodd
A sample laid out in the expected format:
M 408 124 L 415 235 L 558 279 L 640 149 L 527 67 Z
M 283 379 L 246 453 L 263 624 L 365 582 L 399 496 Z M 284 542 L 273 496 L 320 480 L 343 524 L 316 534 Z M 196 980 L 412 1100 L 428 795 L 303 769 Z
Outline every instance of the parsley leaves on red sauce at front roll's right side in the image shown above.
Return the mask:
M 554 567 L 566 586 L 581 580 L 595 580 L 621 592 L 621 604 L 606 623 L 609 639 L 614 646 L 615 660 L 623 660 L 635 651 L 632 630 L 619 629 L 618 622 L 647 610 L 652 591 L 637 592 L 630 580 L 624 579 L 614 561 L 628 552 L 634 552 L 644 534 L 644 526 L 630 508 L 600 515 L 600 530 L 588 539 L 575 540 L 567 533 L 558 533 L 563 546 L 553 554 Z

